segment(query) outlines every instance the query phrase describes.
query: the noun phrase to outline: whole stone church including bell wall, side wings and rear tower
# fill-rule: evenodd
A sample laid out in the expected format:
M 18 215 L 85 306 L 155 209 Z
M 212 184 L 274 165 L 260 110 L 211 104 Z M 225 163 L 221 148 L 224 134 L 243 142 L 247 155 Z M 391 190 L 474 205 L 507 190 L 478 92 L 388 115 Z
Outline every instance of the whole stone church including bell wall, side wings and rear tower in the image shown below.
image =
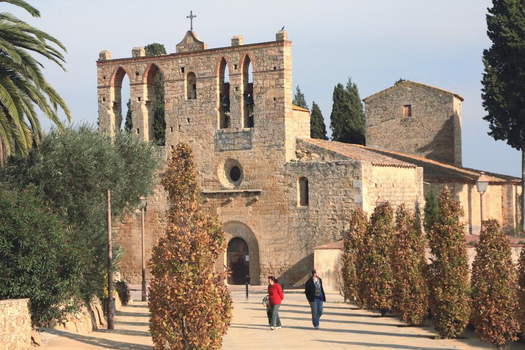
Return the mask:
M 162 74 L 164 155 L 179 142 L 192 146 L 204 207 L 223 222 L 228 238 L 217 268 L 232 269 L 229 283 L 244 284 L 246 275 L 252 284 L 266 283 L 270 274 L 287 285 L 301 283 L 313 268 L 314 247 L 339 240 L 353 208 L 371 212 L 379 200 L 420 210 L 428 186 L 453 183 L 471 204 L 464 206 L 469 230 L 479 229 L 470 214 L 476 213 L 472 184 L 479 173 L 461 167 L 462 99 L 455 94 L 404 82 L 365 99 L 371 142 L 365 147 L 310 139 L 309 111 L 291 103 L 285 30 L 275 41 L 245 45 L 234 36 L 230 46 L 214 49 L 188 31 L 174 54 L 146 57 L 138 47 L 131 58 L 112 59 L 101 51 L 97 68 L 100 130 L 120 128 L 128 75 L 132 132 L 145 141 L 153 139 L 153 82 Z M 432 125 L 421 129 L 430 116 Z M 489 212 L 510 227 L 516 179 L 491 176 Z M 148 258 L 164 233 L 166 208 L 156 186 L 145 215 Z M 141 279 L 140 227 L 136 215 L 116 225 L 121 272 L 131 283 Z

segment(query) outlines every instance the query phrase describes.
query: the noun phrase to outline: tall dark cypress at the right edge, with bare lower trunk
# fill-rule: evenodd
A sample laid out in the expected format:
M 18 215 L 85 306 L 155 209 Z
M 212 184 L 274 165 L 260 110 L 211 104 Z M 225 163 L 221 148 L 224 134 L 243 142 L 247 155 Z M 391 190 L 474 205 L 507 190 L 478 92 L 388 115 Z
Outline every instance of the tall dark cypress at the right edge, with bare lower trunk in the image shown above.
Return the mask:
M 522 193 L 525 193 L 525 3 L 492 0 L 487 14 L 487 35 L 492 46 L 483 51 L 485 73 L 481 97 L 489 135 L 506 140 L 521 151 Z M 525 196 L 521 201 L 525 217 Z M 525 220 L 521 222 L 525 231 Z

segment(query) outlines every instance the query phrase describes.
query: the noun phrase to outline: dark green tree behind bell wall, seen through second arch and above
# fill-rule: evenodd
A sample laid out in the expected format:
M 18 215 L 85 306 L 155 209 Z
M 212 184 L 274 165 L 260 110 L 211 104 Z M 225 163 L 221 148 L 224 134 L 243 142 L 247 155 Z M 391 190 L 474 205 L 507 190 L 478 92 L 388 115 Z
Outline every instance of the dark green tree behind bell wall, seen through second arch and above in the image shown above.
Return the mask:
M 146 51 L 146 56 L 166 55 L 166 49 L 162 44 L 149 44 L 144 46 L 144 49 Z M 153 107 L 153 113 L 155 115 L 155 119 L 153 121 L 153 140 L 156 145 L 164 146 L 166 120 L 164 118 L 164 77 L 162 76 L 161 72 L 159 72 L 155 78 Z

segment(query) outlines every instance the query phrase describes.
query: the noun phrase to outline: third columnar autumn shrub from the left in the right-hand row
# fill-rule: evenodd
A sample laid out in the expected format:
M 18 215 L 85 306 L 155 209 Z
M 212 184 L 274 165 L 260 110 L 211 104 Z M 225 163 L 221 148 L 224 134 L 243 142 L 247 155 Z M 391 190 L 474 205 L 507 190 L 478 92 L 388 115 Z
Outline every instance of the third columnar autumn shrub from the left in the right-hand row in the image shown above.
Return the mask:
M 425 238 L 415 214 L 403 204 L 397 207 L 395 229 L 391 258 L 394 309 L 403 322 L 420 325 L 428 313 Z

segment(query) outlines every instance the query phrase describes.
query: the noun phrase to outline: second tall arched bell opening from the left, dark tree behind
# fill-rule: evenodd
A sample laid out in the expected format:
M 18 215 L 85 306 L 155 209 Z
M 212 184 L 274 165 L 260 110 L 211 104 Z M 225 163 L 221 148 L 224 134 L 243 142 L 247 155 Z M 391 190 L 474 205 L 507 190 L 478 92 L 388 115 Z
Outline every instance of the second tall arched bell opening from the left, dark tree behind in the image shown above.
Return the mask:
M 148 140 L 165 145 L 166 120 L 164 116 L 164 77 L 159 67 L 151 65 L 144 75 L 146 83 L 146 110 L 148 111 Z

